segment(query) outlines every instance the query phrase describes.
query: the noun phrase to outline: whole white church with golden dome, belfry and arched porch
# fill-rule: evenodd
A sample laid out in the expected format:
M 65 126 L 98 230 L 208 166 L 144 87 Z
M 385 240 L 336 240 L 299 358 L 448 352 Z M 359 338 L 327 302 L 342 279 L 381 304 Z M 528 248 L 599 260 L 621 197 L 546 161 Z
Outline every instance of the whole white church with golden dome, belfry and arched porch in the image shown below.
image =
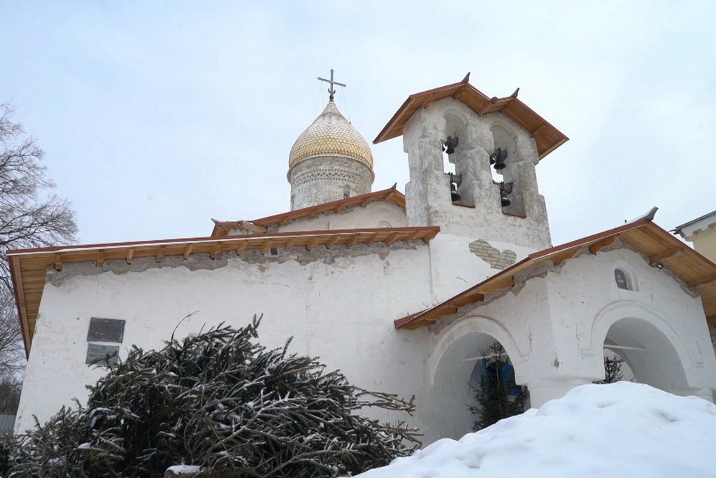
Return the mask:
M 412 418 L 376 418 L 424 444 L 470 431 L 470 378 L 495 341 L 531 406 L 604 378 L 605 350 L 640 383 L 713 401 L 716 265 L 649 219 L 554 246 L 536 168 L 568 138 L 516 93 L 410 95 L 374 143 L 398 137 L 405 195 L 372 191 L 370 146 L 331 99 L 289 153 L 290 211 L 8 252 L 29 357 L 16 432 L 86 398 L 95 358 L 255 314 L 263 345 L 292 336 L 354 385 L 415 396 Z

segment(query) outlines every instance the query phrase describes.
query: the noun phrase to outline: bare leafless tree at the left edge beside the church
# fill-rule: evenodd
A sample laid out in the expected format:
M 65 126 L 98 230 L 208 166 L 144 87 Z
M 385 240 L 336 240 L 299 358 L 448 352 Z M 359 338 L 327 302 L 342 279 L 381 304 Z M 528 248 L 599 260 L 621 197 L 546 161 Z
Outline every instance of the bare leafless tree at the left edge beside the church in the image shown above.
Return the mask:
M 13 113 L 0 104 L 0 380 L 24 365 L 6 251 L 70 244 L 77 234 L 69 202 L 49 193 L 55 186 L 40 164 L 44 152 Z

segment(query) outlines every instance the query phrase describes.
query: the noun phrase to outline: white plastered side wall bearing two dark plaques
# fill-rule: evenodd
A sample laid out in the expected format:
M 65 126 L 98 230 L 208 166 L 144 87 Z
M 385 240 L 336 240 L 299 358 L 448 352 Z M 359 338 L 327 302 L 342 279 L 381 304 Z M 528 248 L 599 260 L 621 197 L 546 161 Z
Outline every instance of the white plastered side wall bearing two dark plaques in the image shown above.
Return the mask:
M 256 251 L 245 252 L 246 260 L 220 255 L 215 260 L 225 264 L 215 262 L 213 269 L 205 268 L 211 259 L 195 263 L 194 256 L 188 261 L 194 270 L 169 267 L 172 258 L 165 258 L 165 267 L 142 259 L 151 264 L 142 272 L 105 262 L 115 270 L 96 274 L 94 264 L 77 264 L 72 275 L 73 264 L 65 264 L 53 279 L 57 285 L 48 283 L 44 290 L 16 431 L 29 429 L 33 414 L 42 423 L 72 398 L 83 401 L 84 386 L 102 375 L 84 363 L 90 317 L 127 321 L 124 358 L 132 344 L 161 347 L 174 328 L 181 338 L 222 321 L 240 327 L 263 314 L 262 345 L 280 347 L 293 336 L 292 352 L 319 357 L 357 386 L 409 398 L 420 387 L 427 333 L 398 333 L 393 320 L 432 304 L 425 302 L 428 247 L 399 243 L 374 244 L 364 253 L 361 247 L 316 247 L 312 261 L 305 251 L 293 253 L 298 248 L 281 252 L 293 254 L 285 262 Z M 142 267 L 141 261 L 132 267 Z M 59 274 L 67 277 L 58 280 Z

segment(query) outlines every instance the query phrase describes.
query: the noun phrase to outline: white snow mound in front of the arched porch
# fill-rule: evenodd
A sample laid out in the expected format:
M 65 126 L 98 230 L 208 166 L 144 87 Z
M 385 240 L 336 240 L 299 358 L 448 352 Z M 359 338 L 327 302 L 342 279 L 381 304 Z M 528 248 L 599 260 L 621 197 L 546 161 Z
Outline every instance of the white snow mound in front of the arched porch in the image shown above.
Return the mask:
M 585 385 L 361 478 L 716 477 L 716 405 L 639 383 Z

